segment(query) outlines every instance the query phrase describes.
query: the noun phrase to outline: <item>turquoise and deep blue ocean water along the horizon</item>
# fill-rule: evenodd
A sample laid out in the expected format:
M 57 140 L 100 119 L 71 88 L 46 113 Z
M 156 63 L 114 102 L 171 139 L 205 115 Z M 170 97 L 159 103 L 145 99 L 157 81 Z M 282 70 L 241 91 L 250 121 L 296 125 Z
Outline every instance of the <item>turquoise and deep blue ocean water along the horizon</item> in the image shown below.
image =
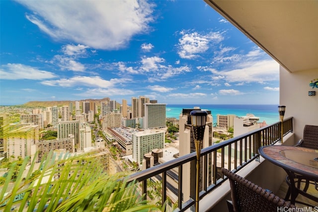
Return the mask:
M 183 108 L 200 107 L 201 109 L 211 110 L 213 122 L 217 122 L 217 114 L 234 114 L 239 117 L 246 116 L 247 113 L 259 117 L 259 121 L 265 121 L 268 125 L 279 122 L 278 105 L 190 105 L 190 104 L 167 104 L 166 117 L 179 119 Z

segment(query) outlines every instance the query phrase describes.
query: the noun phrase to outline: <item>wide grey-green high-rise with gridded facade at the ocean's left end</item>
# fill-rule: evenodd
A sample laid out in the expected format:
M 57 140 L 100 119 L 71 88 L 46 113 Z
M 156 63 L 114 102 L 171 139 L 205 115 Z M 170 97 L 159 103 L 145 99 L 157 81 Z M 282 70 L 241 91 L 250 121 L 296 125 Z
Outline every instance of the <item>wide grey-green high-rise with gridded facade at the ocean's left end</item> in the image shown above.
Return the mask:
M 166 104 L 145 103 L 145 118 L 143 121 L 144 129 L 166 127 L 165 106 Z

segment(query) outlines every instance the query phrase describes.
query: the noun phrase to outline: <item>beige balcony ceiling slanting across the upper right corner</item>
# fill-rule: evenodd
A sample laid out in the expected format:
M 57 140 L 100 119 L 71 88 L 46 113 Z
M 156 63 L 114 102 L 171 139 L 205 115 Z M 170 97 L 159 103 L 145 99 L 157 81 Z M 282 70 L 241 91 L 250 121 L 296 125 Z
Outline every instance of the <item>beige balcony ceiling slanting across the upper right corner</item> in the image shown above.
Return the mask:
M 318 0 L 205 0 L 290 72 L 318 69 Z

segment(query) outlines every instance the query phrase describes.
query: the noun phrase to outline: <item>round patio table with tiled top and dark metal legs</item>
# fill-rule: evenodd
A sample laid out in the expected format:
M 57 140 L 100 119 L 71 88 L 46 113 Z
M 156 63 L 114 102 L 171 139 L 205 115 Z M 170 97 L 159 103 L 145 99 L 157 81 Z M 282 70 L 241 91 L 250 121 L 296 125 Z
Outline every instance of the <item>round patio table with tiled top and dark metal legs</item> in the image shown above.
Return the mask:
M 300 188 L 300 181 L 304 179 L 307 182 L 313 182 L 316 190 L 318 190 L 318 149 L 269 145 L 260 147 L 258 153 L 286 171 L 288 175 L 286 182 L 290 188 L 291 204 L 295 204 L 296 197 L 299 194 L 318 203 L 318 196 L 313 196 L 307 193 L 307 189 Z M 285 199 L 288 199 L 288 197 L 289 193 Z

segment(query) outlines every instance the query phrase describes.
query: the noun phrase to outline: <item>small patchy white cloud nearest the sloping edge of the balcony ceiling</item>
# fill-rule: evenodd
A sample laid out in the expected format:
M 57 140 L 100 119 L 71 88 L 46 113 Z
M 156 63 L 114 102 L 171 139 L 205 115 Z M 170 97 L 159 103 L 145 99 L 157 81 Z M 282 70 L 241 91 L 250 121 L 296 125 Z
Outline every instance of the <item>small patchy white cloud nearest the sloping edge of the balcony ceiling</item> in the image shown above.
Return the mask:
M 194 59 L 199 54 L 206 52 L 214 43 L 221 42 L 224 38 L 220 32 L 210 32 L 201 35 L 198 32 L 188 33 L 182 31 L 178 43 L 178 55 L 184 59 Z

